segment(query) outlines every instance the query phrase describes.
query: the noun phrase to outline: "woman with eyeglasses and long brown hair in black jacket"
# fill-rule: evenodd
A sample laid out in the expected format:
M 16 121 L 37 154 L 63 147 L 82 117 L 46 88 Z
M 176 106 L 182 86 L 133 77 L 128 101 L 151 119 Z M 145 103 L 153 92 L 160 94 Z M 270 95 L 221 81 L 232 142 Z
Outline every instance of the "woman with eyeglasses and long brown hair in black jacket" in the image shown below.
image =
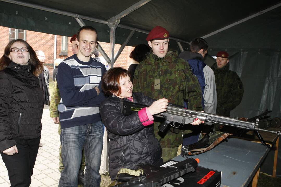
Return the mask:
M 24 40 L 12 40 L 0 59 L 0 154 L 11 186 L 30 186 L 41 138 L 42 63 Z

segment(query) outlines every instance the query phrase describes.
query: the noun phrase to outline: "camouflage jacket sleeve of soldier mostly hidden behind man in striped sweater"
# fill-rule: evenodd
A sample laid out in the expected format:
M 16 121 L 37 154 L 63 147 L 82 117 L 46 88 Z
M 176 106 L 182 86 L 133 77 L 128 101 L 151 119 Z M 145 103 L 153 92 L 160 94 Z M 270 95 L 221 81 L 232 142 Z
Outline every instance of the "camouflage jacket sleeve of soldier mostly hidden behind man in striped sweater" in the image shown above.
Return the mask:
M 58 83 L 54 82 L 53 91 L 50 100 L 50 117 L 58 117 L 58 104 L 60 103 L 60 92 L 58 91 Z

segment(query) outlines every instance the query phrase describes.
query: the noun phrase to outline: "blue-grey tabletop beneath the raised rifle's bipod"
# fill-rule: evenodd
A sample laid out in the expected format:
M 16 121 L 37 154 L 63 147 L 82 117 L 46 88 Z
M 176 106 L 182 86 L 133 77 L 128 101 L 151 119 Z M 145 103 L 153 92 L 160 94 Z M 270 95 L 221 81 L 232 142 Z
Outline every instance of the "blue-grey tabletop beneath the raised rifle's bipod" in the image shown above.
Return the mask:
M 278 136 L 275 137 L 276 141 Z M 229 138 L 227 142 L 221 142 L 214 149 L 189 158 L 199 158 L 198 165 L 201 167 L 221 171 L 221 186 L 240 187 L 248 186 L 254 177 L 258 177 L 260 165 L 268 152 L 269 148 L 260 143 Z M 183 159 L 185 158 L 182 156 L 174 158 L 177 161 Z

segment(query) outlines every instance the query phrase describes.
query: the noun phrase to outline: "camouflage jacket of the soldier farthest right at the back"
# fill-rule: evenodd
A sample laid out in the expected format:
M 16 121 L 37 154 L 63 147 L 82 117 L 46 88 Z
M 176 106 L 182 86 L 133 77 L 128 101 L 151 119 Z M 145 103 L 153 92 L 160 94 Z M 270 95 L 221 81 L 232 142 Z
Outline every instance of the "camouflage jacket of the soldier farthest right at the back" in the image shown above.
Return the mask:
M 217 88 L 217 115 L 230 116 L 230 111 L 237 107 L 243 97 L 243 83 L 237 73 L 229 70 L 229 63 L 223 68 L 212 65 Z

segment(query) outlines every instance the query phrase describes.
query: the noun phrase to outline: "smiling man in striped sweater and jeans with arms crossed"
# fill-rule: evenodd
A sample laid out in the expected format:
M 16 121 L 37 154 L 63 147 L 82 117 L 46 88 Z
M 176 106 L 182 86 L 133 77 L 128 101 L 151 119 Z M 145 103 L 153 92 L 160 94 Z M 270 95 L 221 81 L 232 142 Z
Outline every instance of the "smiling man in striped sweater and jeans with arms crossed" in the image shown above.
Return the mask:
M 101 77 L 106 68 L 91 58 L 97 41 L 96 29 L 81 27 L 76 36 L 77 55 L 65 59 L 58 66 L 56 79 L 62 97 L 58 110 L 64 165 L 60 187 L 77 186 L 83 146 L 87 163 L 84 186 L 100 186 L 103 125 L 99 105 L 105 99 L 101 90 Z

